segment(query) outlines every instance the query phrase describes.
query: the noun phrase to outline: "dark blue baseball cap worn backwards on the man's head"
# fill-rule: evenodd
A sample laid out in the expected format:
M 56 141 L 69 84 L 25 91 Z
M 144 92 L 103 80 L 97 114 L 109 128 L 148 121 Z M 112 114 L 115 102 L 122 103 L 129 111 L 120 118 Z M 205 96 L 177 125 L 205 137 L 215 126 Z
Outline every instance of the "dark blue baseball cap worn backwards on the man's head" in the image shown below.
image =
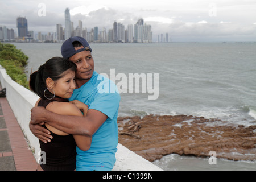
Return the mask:
M 75 47 L 72 44 L 75 41 L 80 42 L 82 44 L 82 46 L 84 46 L 84 48 L 75 50 Z M 71 57 L 71 56 L 73 56 L 76 53 L 79 53 L 81 51 L 90 51 L 90 52 L 92 52 L 92 48 L 90 48 L 88 42 L 84 38 L 82 38 L 81 36 L 73 36 L 73 37 L 65 40 L 65 42 L 61 46 L 61 55 L 65 59 L 69 59 L 69 57 Z

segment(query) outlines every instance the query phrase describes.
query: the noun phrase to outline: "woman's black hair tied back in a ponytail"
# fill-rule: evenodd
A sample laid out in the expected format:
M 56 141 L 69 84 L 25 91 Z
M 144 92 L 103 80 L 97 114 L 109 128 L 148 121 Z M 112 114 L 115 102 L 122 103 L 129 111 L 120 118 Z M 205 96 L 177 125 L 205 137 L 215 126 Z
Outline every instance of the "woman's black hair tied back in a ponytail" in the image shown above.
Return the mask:
M 62 57 L 52 57 L 41 65 L 38 71 L 30 75 L 30 89 L 42 99 L 52 98 L 53 94 L 48 89 L 46 90 L 46 79 L 52 78 L 53 81 L 57 81 L 63 77 L 63 72 L 68 69 L 76 71 L 76 64 Z M 44 90 L 46 90 L 46 97 L 44 96 Z

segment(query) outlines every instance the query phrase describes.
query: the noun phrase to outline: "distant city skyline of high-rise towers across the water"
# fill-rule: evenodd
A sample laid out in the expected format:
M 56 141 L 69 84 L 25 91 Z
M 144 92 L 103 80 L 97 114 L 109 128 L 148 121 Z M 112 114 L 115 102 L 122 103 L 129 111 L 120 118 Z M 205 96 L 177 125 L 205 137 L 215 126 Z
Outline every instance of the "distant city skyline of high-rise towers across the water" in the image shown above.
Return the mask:
M 144 24 L 144 20 L 141 18 L 136 24 L 128 24 L 127 28 L 122 23 L 114 22 L 113 28 L 98 31 L 98 27 L 87 30 L 86 27 L 82 27 L 82 21 L 79 20 L 79 26 L 74 28 L 73 22 L 70 20 L 69 9 L 65 9 L 65 27 L 62 24 L 56 24 L 55 32 L 48 32 L 42 34 L 41 31 L 34 34 L 33 30 L 28 29 L 28 20 L 25 17 L 18 17 L 16 19 L 16 27 L 18 28 L 18 35 L 10 36 L 10 30 L 6 26 L 3 26 L 9 33 L 2 31 L 0 27 L 0 40 L 2 41 L 22 41 L 22 42 L 63 42 L 71 36 L 82 36 L 88 42 L 101 42 L 101 43 L 152 43 L 152 31 L 151 25 Z M 13 29 L 11 31 L 14 32 Z M 168 34 L 166 33 L 166 38 Z M 158 38 L 159 42 L 159 38 Z M 161 39 L 163 42 L 163 39 Z M 168 38 L 164 42 L 168 42 Z

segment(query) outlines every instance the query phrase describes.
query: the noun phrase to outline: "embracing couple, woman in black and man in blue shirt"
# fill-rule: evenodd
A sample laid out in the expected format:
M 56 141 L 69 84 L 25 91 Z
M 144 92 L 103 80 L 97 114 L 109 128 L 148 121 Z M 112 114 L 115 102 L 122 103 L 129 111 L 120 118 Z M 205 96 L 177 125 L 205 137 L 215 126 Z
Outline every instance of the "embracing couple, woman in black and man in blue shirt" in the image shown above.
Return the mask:
M 91 52 L 84 38 L 71 37 L 61 46 L 63 57 L 30 75 L 30 89 L 40 97 L 31 109 L 30 130 L 46 154 L 38 170 L 113 169 L 120 95 L 98 92 L 114 82 L 94 71 Z

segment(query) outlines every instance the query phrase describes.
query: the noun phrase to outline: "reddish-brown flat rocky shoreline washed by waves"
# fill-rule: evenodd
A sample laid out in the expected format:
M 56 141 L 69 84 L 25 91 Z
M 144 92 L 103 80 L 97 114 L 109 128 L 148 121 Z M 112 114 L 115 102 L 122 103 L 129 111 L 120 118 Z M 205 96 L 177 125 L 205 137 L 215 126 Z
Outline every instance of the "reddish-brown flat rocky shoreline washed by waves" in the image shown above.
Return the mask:
M 256 125 L 232 126 L 191 115 L 118 117 L 118 142 L 153 162 L 179 154 L 228 160 L 256 160 Z

